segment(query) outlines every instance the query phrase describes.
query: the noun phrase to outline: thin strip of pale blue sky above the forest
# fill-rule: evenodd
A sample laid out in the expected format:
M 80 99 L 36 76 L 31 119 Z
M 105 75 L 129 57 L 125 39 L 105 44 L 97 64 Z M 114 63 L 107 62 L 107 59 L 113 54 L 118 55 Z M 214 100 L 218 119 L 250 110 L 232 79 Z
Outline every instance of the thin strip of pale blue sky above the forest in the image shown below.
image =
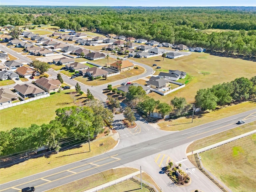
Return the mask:
M 48 6 L 256 6 L 256 0 L 0 0 L 0 5 Z

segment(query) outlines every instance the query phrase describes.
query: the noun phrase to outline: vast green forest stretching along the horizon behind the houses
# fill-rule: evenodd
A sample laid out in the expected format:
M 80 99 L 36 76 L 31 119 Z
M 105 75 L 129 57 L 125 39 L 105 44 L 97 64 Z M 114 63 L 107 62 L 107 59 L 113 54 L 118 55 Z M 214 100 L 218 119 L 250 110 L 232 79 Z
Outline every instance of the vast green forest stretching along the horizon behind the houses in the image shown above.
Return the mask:
M 73 30 L 98 30 L 159 42 L 201 46 L 227 54 L 256 55 L 256 9 L 15 7 L 1 6 L 0 23 L 54 24 Z M 39 15 L 40 14 L 40 15 Z M 204 29 L 236 31 L 203 32 Z

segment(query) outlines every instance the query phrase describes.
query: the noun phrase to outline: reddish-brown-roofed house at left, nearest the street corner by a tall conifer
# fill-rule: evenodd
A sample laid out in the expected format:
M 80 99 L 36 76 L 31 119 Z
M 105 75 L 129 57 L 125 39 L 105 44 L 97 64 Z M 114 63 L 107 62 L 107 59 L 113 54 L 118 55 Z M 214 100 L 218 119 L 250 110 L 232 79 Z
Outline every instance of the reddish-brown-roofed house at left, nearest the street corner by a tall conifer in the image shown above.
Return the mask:
M 35 84 L 46 92 L 51 93 L 57 92 L 59 90 L 61 82 L 57 79 L 48 79 L 45 77 L 41 77 L 40 79 L 35 81 Z

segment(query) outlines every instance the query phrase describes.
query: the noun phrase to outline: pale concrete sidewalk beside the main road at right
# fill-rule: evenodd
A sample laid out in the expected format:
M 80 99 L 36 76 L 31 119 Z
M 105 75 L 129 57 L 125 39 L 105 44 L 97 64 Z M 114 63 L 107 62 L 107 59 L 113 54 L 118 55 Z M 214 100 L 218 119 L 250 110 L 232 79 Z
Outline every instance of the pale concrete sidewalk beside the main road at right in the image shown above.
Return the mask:
M 215 147 L 224 145 L 224 144 L 229 143 L 229 142 L 232 142 L 232 141 L 234 141 L 234 140 L 238 140 L 238 139 L 240 139 L 240 138 L 246 137 L 246 136 L 251 135 L 251 134 L 254 134 L 254 133 L 256 133 L 256 130 L 253 130 L 253 131 L 244 133 L 244 134 L 242 134 L 242 135 L 235 136 L 235 137 L 233 137 L 233 138 L 230 138 L 230 139 L 227 139 L 227 140 L 224 140 L 224 141 L 221 141 L 221 142 L 218 142 L 218 143 L 209 145 L 209 146 L 207 146 L 207 147 L 204 147 L 204 148 L 201 148 L 201 149 L 198 149 L 198 150 L 194 150 L 194 151 L 192 151 L 192 152 L 187 153 L 186 155 L 189 156 L 189 155 L 192 155 L 192 154 L 195 154 L 195 153 L 204 152 L 204 151 L 207 151 L 207 150 L 210 150 L 210 149 L 212 149 L 212 148 L 215 148 Z

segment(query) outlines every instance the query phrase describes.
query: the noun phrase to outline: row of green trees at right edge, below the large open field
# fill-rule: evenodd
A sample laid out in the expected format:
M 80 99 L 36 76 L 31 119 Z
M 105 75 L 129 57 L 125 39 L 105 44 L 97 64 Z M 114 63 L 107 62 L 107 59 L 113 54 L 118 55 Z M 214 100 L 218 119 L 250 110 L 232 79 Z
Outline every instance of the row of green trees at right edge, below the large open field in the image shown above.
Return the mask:
M 234 81 L 198 90 L 195 100 L 203 110 L 215 109 L 232 102 L 246 101 L 256 96 L 256 76 L 236 78 Z

